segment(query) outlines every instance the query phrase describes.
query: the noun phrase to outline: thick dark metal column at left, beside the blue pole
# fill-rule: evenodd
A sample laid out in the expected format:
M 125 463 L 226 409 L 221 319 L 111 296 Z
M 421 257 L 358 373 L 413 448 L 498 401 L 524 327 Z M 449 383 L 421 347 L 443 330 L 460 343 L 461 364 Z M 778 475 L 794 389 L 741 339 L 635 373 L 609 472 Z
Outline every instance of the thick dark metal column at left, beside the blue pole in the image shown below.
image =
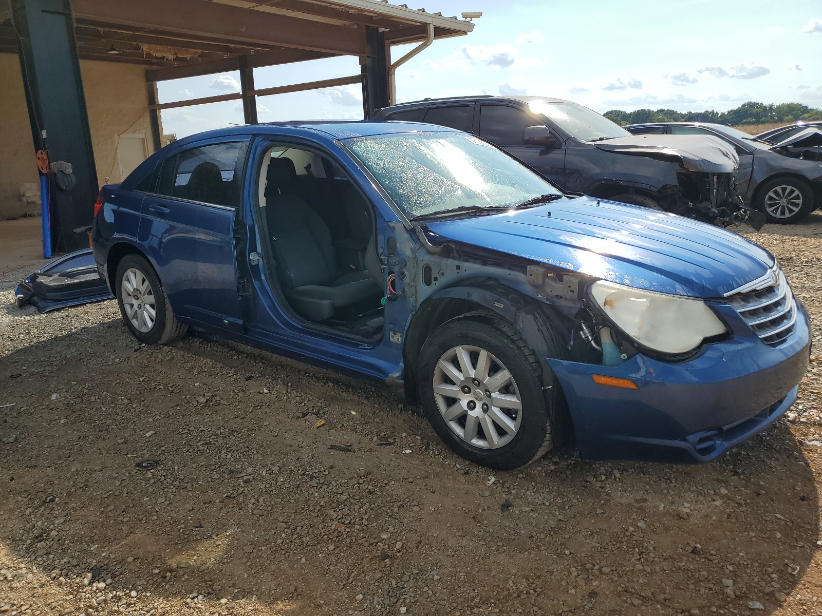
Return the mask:
M 84 228 L 91 224 L 98 184 L 72 10 L 69 0 L 12 0 L 12 21 L 35 149 L 74 168 L 72 190 L 51 182 L 51 205 L 54 247 L 76 251 L 89 245 Z

